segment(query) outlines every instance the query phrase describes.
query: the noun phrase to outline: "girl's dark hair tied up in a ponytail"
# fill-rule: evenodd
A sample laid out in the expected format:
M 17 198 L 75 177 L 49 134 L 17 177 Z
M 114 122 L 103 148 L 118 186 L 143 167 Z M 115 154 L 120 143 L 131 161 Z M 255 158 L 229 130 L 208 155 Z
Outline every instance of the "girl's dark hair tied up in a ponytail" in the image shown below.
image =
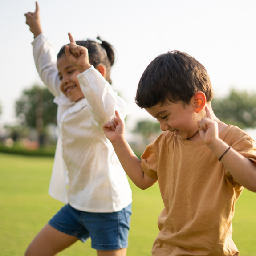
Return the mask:
M 98 40 L 101 38 L 98 36 Z M 102 40 L 101 40 L 102 41 Z M 99 44 L 95 41 L 76 41 L 77 45 L 84 46 L 88 49 L 89 53 L 89 62 L 95 68 L 98 65 L 103 65 L 106 68 L 106 76 L 105 79 L 111 84 L 112 81 L 110 79 L 110 68 L 114 64 L 115 55 L 114 48 L 106 41 L 102 41 L 102 44 Z M 57 54 L 57 58 L 60 58 L 63 54 L 65 54 L 65 45 L 61 47 L 59 53 Z

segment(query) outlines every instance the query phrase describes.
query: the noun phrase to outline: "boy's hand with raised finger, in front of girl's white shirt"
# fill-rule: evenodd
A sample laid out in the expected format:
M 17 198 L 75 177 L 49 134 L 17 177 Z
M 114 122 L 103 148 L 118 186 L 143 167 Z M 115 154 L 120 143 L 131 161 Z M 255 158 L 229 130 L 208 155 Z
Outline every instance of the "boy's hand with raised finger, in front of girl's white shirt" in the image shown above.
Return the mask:
M 125 137 L 124 122 L 120 118 L 118 111 L 115 111 L 115 115 L 116 117 L 105 123 L 102 127 L 106 137 L 111 143 L 117 142 L 120 138 Z

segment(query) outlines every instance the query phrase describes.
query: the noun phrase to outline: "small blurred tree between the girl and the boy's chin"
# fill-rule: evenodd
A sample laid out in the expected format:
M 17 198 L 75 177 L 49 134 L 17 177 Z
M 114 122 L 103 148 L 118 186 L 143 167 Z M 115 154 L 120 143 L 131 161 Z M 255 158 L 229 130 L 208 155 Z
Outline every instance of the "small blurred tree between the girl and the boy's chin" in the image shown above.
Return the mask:
M 161 132 L 159 122 L 151 120 L 138 121 L 133 130 L 133 133 L 138 133 L 142 136 L 146 145 L 151 142 L 150 137 L 157 137 Z

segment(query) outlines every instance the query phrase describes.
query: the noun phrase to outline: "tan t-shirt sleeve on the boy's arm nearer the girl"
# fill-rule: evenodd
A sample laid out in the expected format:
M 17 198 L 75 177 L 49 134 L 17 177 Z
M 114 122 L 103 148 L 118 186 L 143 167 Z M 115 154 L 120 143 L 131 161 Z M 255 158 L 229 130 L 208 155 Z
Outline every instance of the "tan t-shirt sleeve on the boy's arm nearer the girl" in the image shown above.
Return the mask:
M 158 169 L 158 160 L 159 160 L 159 146 L 158 139 L 150 143 L 144 153 L 141 156 L 141 168 L 142 171 L 153 179 L 158 179 L 157 169 Z

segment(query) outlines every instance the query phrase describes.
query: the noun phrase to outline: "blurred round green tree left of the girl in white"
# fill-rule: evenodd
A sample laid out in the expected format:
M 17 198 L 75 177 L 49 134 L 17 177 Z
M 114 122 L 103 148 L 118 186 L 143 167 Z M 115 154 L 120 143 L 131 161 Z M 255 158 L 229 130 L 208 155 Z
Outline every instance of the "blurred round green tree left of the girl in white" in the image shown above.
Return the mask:
M 57 105 L 53 99 L 46 87 L 33 85 L 31 89 L 25 89 L 16 101 L 16 117 L 22 126 L 37 129 L 40 145 L 44 144 L 45 126 L 56 124 Z

